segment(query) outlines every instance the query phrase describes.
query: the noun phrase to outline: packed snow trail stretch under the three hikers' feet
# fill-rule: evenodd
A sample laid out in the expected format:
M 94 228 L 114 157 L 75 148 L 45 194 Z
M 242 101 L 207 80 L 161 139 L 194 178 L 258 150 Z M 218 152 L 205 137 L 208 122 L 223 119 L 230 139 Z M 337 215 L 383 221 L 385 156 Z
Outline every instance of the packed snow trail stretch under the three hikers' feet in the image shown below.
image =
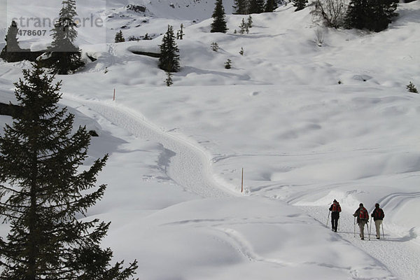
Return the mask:
M 312 216 L 319 221 L 319 223 L 331 228 L 331 216 L 327 222 L 329 206 L 302 206 L 300 208 L 306 211 L 309 216 Z M 369 220 L 369 227 L 371 226 L 370 224 Z M 398 279 L 418 279 L 417 277 L 420 275 L 420 246 L 413 241 L 410 241 L 410 239 L 412 239 L 410 236 L 411 232 L 405 237 L 395 235 L 395 233 L 386 228 L 386 218 L 384 218 L 384 234 L 385 239 L 382 239 L 381 230 L 381 239 L 376 239 L 376 229 L 374 228 L 373 223 L 373 228 L 370 232 L 370 240 L 367 228 L 365 228 L 365 240 L 360 240 L 358 225 L 356 225 L 355 235 L 353 213 L 342 211 L 339 216 L 339 230 L 337 235 L 365 251 L 367 254 L 371 255 L 372 258 L 377 259 L 395 276 L 398 276 Z M 345 253 L 346 252 L 343 252 L 343 254 Z

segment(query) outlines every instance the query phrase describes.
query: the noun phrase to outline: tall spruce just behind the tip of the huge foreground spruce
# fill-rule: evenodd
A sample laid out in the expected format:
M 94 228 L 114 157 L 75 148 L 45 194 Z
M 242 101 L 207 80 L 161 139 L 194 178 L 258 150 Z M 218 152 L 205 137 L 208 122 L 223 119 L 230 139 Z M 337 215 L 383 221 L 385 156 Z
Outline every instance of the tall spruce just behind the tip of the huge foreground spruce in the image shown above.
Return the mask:
M 52 73 L 73 73 L 85 63 L 81 59 L 81 51 L 74 41 L 77 37 L 76 23 L 76 0 L 64 0 L 59 12 L 59 19 L 52 29 L 52 44 L 50 52 L 50 66 Z

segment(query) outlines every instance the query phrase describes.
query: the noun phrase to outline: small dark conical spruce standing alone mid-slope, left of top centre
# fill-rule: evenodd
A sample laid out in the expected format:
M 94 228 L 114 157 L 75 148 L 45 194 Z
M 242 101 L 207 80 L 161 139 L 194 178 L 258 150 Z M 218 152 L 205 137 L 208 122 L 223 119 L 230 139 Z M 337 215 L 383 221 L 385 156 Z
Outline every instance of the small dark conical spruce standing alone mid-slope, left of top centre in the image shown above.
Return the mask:
M 159 46 L 159 68 L 169 72 L 179 71 L 179 48 L 176 45 L 174 28 L 171 25 L 168 25 L 168 30 Z

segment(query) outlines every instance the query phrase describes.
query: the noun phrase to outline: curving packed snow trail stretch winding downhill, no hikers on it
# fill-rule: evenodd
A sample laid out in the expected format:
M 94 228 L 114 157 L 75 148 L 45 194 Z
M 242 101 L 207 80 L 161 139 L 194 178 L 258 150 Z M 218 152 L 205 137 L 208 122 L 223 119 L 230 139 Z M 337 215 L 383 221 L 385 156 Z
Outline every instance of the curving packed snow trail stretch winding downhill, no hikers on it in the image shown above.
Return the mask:
M 219 187 L 223 182 L 216 182 L 211 169 L 211 161 L 198 145 L 148 123 L 138 112 L 115 103 L 96 99 L 86 100 L 69 94 L 63 97 L 62 102 L 64 104 L 76 102 L 80 106 L 85 106 L 87 110 L 98 113 L 116 126 L 122 127 L 135 137 L 162 144 L 165 148 L 165 155 L 163 155 L 165 158 L 160 158 L 159 161 L 165 161 L 165 165 L 169 165 L 169 168 L 165 170 L 167 176 L 186 191 L 201 197 L 235 195 L 228 188 L 222 190 Z

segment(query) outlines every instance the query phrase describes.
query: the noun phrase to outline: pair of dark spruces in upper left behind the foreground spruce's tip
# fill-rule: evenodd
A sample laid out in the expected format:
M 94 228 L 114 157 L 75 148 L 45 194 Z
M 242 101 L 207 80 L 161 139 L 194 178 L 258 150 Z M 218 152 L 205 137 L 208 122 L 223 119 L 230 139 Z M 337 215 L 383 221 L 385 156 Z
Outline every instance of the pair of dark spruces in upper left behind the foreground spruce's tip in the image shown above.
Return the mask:
M 59 11 L 59 18 L 52 29 L 52 43 L 46 50 L 48 58 L 39 60 L 40 66 L 47 67 L 51 73 L 69 74 L 85 65 L 81 59 L 81 51 L 74 41 L 77 37 L 76 23 L 76 0 L 62 1 L 62 8 Z M 18 42 L 18 25 L 12 22 L 6 35 L 6 46 L 1 51 L 0 57 L 7 62 L 29 59 L 36 61 L 41 53 L 31 53 L 30 50 L 23 50 Z

